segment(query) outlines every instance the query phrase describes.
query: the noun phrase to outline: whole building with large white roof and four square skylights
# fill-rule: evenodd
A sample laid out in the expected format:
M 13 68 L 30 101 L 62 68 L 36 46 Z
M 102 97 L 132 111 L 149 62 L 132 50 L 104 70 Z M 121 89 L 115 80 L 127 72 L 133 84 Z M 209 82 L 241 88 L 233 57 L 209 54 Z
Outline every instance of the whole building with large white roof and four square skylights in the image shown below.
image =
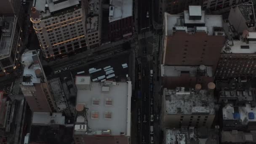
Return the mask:
M 131 82 L 91 82 L 76 76 L 75 144 L 129 144 Z M 86 96 L 85 96 L 86 95 Z

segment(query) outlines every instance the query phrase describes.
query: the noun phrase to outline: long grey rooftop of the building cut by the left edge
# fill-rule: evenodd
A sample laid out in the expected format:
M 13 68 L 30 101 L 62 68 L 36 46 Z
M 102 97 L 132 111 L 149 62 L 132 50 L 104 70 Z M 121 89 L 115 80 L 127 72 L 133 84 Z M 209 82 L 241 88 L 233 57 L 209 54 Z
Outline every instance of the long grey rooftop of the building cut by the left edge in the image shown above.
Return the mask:
M 0 59 L 11 55 L 12 40 L 17 23 L 16 16 L 0 17 Z

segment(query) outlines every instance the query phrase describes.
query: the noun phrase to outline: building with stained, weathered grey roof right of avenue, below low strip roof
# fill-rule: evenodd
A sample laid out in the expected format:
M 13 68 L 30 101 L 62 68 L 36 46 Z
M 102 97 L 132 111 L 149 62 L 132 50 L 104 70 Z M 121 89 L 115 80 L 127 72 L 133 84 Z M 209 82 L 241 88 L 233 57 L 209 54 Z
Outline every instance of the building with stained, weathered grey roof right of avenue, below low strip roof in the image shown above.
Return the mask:
M 196 90 L 177 87 L 163 89 L 162 128 L 193 126 L 211 128 L 215 117 L 213 87 Z

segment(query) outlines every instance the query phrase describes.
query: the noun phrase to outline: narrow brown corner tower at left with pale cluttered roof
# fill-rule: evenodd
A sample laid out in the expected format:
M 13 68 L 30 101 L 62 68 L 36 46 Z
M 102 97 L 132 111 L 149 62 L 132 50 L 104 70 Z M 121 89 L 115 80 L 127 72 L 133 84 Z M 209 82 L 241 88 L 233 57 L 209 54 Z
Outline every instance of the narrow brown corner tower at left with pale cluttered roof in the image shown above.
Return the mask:
M 22 55 L 24 72 L 21 91 L 32 112 L 54 112 L 56 106 L 36 51 Z

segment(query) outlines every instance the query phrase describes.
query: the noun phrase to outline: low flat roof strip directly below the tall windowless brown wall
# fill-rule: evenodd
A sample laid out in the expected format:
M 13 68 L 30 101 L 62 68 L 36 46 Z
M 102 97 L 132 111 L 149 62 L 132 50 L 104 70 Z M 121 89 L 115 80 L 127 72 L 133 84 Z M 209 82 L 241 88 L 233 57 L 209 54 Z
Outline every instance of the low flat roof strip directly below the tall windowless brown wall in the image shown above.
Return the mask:
M 168 66 L 161 64 L 162 77 L 180 77 L 182 73 L 188 73 L 189 77 L 207 76 L 213 77 L 213 67 L 204 67 L 204 72 L 200 72 L 200 66 Z

